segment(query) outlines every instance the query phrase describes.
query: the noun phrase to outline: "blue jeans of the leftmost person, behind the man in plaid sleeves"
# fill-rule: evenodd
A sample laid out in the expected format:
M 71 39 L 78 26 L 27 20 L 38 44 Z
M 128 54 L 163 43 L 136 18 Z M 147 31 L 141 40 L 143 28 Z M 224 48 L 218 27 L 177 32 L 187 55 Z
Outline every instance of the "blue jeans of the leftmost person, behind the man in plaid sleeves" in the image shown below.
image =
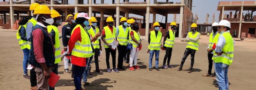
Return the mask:
M 23 58 L 23 70 L 24 70 L 24 74 L 27 74 L 27 64 L 28 64 L 28 53 L 29 53 L 29 49 L 25 48 L 22 49 L 23 53 L 24 53 L 24 58 Z

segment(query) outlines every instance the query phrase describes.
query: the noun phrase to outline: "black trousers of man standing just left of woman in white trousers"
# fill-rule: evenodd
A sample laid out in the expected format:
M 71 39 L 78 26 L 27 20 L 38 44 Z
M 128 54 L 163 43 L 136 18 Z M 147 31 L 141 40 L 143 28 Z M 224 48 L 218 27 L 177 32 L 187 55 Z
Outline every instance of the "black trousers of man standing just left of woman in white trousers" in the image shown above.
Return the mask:
M 124 58 L 124 55 L 125 55 L 126 47 L 127 46 L 125 46 L 125 45 L 118 45 L 117 46 L 117 50 L 118 50 L 117 68 L 122 68 L 123 67 L 123 58 Z

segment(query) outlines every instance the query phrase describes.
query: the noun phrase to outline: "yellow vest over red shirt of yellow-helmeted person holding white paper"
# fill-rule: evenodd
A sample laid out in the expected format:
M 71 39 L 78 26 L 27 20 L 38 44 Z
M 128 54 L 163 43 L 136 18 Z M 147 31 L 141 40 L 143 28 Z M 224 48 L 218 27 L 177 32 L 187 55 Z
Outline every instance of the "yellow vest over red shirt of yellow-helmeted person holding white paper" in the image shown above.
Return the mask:
M 108 26 L 105 26 L 104 30 L 105 30 L 105 35 L 106 35 L 106 37 L 104 39 L 107 41 L 108 44 L 111 44 L 114 41 L 114 39 L 116 39 L 116 27 L 113 26 L 113 33 L 108 28 Z M 105 44 L 105 43 L 104 43 L 104 47 L 109 48 L 107 46 L 107 44 Z

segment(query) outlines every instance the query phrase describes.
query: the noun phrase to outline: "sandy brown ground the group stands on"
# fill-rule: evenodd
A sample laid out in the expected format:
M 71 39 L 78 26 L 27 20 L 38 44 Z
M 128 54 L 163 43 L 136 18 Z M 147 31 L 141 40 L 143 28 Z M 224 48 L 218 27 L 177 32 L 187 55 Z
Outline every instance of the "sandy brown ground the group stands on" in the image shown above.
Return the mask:
M 29 90 L 30 81 L 24 79 L 22 60 L 23 52 L 16 39 L 16 31 L 0 30 L 0 88 L 1 90 Z M 201 36 L 199 50 L 195 55 L 194 72 L 187 73 L 190 67 L 190 56 L 187 58 L 182 71 L 177 71 L 181 58 L 184 54 L 186 43 L 175 40 L 172 51 L 171 64 L 174 68 L 149 71 L 149 54 L 147 41 L 142 41 L 142 50 L 139 52 L 138 61 L 140 70 L 120 71 L 120 73 L 107 73 L 105 51 L 100 59 L 100 69 L 104 73 L 96 73 L 94 60 L 92 61 L 91 72 L 88 82 L 94 86 L 87 87 L 89 90 L 217 90 L 212 85 L 213 77 L 203 77 L 207 73 L 207 41 L 206 36 Z M 62 43 L 62 42 L 61 42 Z M 229 67 L 229 90 L 253 90 L 255 89 L 255 45 L 256 42 L 235 41 L 234 61 Z M 61 46 L 62 47 L 62 46 Z M 63 48 L 62 48 L 63 49 Z M 162 66 L 165 51 L 160 50 L 159 67 Z M 118 54 L 116 55 L 118 56 Z M 117 58 L 116 58 L 117 59 Z M 110 67 L 112 62 L 110 58 Z M 153 65 L 155 66 L 155 59 Z M 65 73 L 63 62 L 59 63 L 59 82 L 56 90 L 73 90 L 74 84 L 70 73 Z M 117 65 L 117 64 L 116 64 Z M 125 63 L 124 63 L 125 65 Z M 214 71 L 214 69 L 213 69 Z

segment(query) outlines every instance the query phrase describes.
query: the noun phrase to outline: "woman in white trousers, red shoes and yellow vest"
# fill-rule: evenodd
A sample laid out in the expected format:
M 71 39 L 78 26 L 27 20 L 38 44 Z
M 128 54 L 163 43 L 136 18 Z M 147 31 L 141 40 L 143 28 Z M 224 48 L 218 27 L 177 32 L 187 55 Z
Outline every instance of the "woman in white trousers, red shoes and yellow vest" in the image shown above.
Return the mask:
M 129 41 L 131 42 L 132 49 L 130 50 L 130 70 L 140 69 L 137 66 L 137 57 L 139 54 L 139 50 L 137 48 L 140 47 L 141 40 L 140 40 L 140 34 L 139 34 L 139 24 L 137 22 L 133 22 L 131 24 L 131 31 L 129 34 Z

